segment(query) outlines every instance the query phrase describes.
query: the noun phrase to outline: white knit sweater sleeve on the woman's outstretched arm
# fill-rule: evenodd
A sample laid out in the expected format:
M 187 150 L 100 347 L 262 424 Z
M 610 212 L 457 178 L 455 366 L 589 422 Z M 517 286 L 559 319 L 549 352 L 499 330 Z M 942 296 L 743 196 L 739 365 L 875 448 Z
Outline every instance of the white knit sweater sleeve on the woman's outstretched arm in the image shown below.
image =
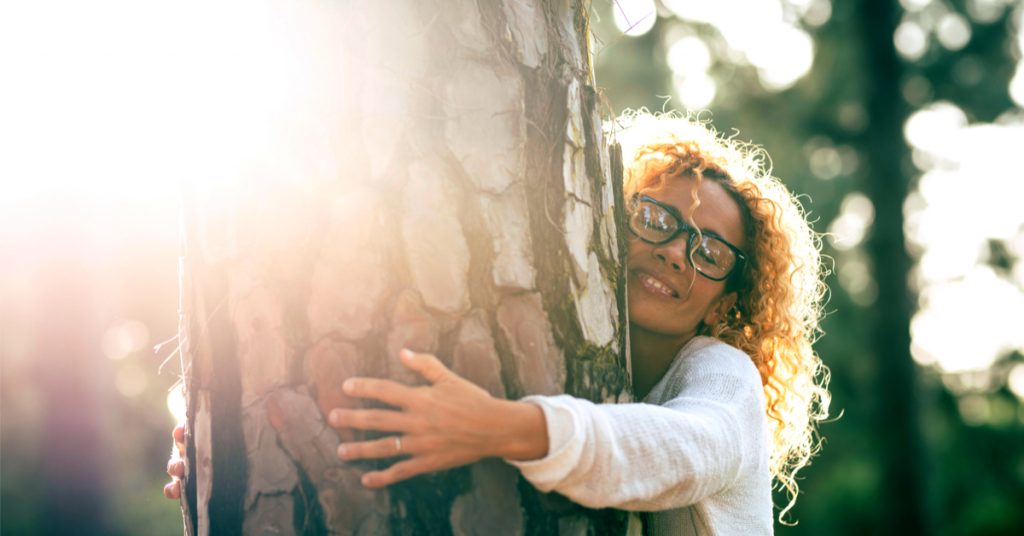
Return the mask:
M 699 502 L 764 452 L 760 378 L 738 359 L 698 359 L 675 371 L 667 379 L 679 390 L 663 406 L 527 397 L 544 411 L 548 455 L 511 463 L 539 490 L 585 506 L 651 511 Z

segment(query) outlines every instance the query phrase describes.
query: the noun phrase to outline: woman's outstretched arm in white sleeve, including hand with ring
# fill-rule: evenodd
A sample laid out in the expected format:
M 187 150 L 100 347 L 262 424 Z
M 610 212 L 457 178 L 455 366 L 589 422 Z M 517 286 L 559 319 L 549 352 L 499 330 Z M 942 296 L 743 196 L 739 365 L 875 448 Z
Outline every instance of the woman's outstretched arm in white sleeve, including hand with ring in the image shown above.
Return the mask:
M 738 354 L 738 353 L 737 353 Z M 504 457 L 538 489 L 591 507 L 659 510 L 698 502 L 767 457 L 764 404 L 744 356 L 713 356 L 665 406 L 606 405 L 569 396 L 494 399 L 433 356 L 403 354 L 430 385 L 353 378 L 347 394 L 398 410 L 335 410 L 337 427 L 394 431 L 343 444 L 343 459 L 411 455 L 364 484 L 387 486 L 485 457 Z M 767 459 L 767 458 L 766 458 Z M 767 469 L 766 469 L 767 470 Z

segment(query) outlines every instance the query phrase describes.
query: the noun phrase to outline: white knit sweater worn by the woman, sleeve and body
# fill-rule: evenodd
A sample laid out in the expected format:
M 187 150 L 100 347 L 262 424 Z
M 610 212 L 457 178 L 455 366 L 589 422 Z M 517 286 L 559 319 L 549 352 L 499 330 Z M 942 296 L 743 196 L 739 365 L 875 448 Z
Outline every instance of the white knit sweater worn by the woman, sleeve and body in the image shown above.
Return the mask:
M 761 377 L 742 352 L 695 337 L 643 404 L 527 397 L 548 455 L 511 462 L 539 490 L 652 512 L 647 534 L 772 534 Z

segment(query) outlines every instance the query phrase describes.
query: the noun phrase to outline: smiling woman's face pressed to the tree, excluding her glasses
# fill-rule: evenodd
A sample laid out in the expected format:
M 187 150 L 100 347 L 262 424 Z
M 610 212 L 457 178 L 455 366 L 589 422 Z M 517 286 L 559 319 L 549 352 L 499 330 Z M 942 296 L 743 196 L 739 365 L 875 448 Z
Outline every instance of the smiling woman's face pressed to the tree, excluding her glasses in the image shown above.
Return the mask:
M 641 193 L 688 216 L 694 183 L 688 177 L 670 178 L 657 189 Z M 696 225 L 742 249 L 745 243 L 736 202 L 712 179 L 700 181 L 697 195 Z M 696 334 L 701 322 L 714 323 L 735 302 L 734 292 L 725 294 L 725 281 L 712 281 L 693 271 L 686 256 L 686 239 L 687 234 L 682 233 L 671 242 L 652 245 L 631 235 L 628 285 L 633 329 L 685 342 Z

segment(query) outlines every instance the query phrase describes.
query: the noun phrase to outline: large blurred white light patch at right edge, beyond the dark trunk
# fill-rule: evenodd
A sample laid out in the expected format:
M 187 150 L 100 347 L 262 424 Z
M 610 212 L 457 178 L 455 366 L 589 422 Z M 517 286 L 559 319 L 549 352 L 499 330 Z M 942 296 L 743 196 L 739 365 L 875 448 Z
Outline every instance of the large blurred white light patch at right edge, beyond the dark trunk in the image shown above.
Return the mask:
M 914 358 L 964 372 L 1024 352 L 1024 292 L 1012 275 L 983 264 L 989 241 L 1014 247 L 1024 233 L 1024 181 L 1012 171 L 1019 167 L 1024 122 L 1011 117 L 969 125 L 962 110 L 935 102 L 911 115 L 904 133 L 923 168 L 906 214 L 907 239 L 921 251 Z

